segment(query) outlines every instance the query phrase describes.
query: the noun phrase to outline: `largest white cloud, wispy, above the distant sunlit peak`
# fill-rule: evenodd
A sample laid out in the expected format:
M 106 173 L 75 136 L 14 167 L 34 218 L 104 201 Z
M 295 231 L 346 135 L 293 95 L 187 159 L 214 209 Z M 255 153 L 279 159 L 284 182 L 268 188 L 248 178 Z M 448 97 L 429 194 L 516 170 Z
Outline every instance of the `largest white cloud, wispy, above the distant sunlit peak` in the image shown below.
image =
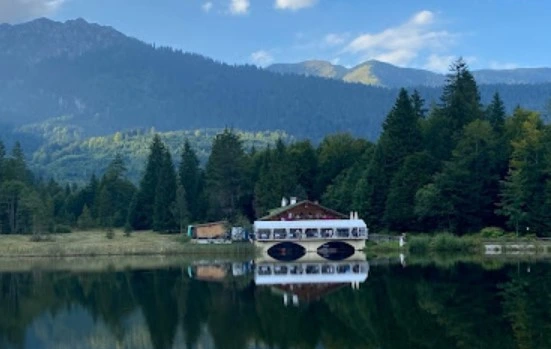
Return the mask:
M 360 55 L 363 60 L 408 65 L 423 52 L 444 51 L 453 43 L 455 35 L 433 30 L 434 22 L 433 12 L 421 11 L 399 26 L 354 38 L 343 52 Z

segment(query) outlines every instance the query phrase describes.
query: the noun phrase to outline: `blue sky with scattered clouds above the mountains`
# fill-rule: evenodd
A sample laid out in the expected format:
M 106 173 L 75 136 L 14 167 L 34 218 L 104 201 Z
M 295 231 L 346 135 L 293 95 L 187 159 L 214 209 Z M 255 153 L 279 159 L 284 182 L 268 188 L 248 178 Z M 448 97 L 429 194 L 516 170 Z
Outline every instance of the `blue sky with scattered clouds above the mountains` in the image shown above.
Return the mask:
M 82 17 L 157 45 L 265 66 L 378 59 L 445 71 L 551 66 L 544 0 L 0 0 L 0 22 Z

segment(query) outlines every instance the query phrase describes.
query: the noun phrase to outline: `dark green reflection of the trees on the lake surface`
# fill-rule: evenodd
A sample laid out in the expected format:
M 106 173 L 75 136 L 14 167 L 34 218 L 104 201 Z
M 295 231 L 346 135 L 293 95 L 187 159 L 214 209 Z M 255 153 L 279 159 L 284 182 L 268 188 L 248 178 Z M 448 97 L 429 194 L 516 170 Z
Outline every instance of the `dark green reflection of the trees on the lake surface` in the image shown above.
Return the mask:
M 76 307 L 105 324 L 118 343 L 128 340 L 128 319 L 141 313 L 151 340 L 146 346 L 156 349 L 197 348 L 205 336 L 228 349 L 254 343 L 282 349 L 320 343 L 327 349 L 548 348 L 550 291 L 545 264 L 531 273 L 469 264 L 375 269 L 360 290 L 345 287 L 299 307 L 285 307 L 266 287 L 201 282 L 180 268 L 3 273 L 0 345 L 24 348 L 35 319 Z

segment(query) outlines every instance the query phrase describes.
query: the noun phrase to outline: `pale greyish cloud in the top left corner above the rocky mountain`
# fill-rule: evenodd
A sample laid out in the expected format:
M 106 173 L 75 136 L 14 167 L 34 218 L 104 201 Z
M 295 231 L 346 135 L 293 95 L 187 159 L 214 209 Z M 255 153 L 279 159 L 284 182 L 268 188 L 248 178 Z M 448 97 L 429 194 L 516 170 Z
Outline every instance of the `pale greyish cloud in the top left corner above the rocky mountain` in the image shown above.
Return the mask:
M 55 13 L 66 0 L 0 0 L 0 23 L 16 23 Z

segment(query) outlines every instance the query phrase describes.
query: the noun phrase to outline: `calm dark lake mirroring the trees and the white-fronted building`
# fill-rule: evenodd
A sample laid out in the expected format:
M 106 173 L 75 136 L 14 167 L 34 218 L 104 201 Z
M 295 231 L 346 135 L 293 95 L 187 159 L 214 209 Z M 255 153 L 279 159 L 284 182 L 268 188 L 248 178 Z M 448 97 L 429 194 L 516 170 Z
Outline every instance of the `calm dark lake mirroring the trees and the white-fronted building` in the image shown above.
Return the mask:
M 541 261 L 140 258 L 8 264 L 0 348 L 551 348 Z

